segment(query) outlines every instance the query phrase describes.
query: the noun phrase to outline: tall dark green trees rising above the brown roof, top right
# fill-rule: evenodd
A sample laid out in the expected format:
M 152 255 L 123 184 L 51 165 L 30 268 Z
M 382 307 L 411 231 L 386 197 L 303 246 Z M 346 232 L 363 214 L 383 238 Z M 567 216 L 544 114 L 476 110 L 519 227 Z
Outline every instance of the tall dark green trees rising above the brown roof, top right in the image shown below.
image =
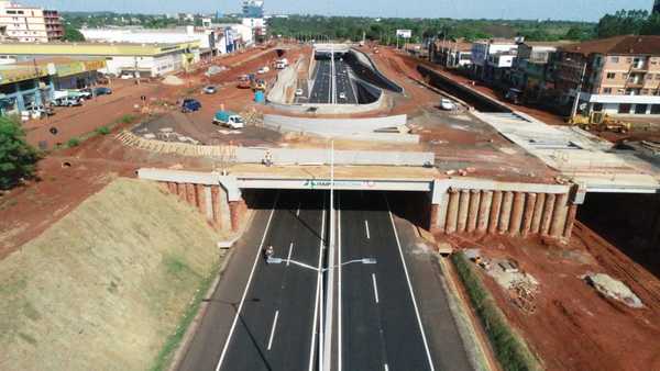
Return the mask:
M 606 14 L 596 26 L 600 38 L 618 35 L 660 35 L 660 14 L 651 14 L 646 10 L 619 10 Z

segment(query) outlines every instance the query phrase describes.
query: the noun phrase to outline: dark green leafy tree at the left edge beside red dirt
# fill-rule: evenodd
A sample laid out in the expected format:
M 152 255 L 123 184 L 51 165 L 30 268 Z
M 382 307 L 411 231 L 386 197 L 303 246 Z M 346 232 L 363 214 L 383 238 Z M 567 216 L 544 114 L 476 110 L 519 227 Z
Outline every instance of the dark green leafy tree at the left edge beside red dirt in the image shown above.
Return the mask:
M 15 120 L 0 116 L 0 189 L 9 189 L 21 179 L 34 176 L 36 150 L 25 142 L 25 133 Z

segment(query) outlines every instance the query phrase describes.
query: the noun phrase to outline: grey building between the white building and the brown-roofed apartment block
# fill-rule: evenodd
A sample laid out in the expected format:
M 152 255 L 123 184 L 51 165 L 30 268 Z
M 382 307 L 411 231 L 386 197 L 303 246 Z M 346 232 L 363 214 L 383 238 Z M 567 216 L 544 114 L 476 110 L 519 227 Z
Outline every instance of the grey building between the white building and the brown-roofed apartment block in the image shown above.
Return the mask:
M 552 89 L 557 48 L 566 42 L 522 42 L 512 69 L 512 87 L 520 89 L 528 99 L 539 99 Z

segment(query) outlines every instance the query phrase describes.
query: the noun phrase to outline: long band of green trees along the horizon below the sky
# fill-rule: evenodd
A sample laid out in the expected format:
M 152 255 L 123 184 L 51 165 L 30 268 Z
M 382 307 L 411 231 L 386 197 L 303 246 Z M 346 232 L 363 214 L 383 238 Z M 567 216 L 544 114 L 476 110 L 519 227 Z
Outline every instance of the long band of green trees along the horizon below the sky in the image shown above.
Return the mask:
M 268 21 L 268 32 L 273 35 L 298 40 L 380 41 L 382 44 L 396 43 L 396 30 L 413 30 L 410 42 L 419 43 L 427 37 L 465 37 L 468 40 L 487 37 L 526 36 L 529 41 L 583 40 L 594 36 L 594 24 L 568 21 L 526 20 L 452 20 L 452 19 L 373 19 L 356 16 L 290 15 L 288 19 L 274 18 Z

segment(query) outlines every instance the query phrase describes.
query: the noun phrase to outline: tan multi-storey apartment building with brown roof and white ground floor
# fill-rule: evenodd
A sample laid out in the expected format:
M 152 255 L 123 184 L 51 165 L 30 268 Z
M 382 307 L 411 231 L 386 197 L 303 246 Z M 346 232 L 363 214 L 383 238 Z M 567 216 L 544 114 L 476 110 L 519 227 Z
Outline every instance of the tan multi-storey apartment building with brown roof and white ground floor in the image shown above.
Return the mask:
M 558 49 L 556 89 L 579 112 L 660 115 L 660 36 L 617 36 Z

